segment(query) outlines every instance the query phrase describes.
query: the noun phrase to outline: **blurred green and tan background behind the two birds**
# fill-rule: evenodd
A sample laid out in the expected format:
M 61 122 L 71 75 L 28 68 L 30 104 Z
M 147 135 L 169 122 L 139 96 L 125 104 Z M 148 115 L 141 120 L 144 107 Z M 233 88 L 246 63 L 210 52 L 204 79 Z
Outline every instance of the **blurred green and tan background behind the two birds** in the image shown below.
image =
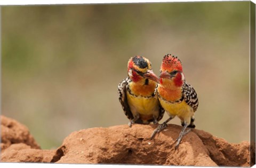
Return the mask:
M 25 124 L 43 149 L 59 147 L 73 131 L 127 124 L 117 85 L 128 59 L 147 57 L 159 75 L 171 53 L 199 95 L 196 128 L 248 141 L 249 7 L 249 1 L 3 6 L 2 114 Z

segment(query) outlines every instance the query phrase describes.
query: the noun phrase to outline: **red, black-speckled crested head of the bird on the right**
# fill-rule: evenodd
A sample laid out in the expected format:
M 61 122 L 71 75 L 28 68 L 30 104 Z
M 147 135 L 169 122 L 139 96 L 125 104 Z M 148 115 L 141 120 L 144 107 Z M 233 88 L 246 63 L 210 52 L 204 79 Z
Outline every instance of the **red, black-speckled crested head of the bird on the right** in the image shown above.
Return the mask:
M 178 57 L 171 54 L 164 55 L 160 71 L 160 84 L 163 84 L 163 79 L 167 79 L 166 84 L 174 83 L 178 87 L 183 85 L 185 77 Z

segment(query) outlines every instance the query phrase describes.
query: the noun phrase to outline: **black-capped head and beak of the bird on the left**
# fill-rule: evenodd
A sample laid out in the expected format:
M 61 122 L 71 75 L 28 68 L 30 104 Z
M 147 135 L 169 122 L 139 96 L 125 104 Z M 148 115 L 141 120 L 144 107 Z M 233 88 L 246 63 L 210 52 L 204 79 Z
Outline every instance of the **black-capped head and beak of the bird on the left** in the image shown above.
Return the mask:
M 128 76 L 133 82 L 138 82 L 143 78 L 151 79 L 159 83 L 159 78 L 153 73 L 151 62 L 141 56 L 134 56 L 128 61 Z

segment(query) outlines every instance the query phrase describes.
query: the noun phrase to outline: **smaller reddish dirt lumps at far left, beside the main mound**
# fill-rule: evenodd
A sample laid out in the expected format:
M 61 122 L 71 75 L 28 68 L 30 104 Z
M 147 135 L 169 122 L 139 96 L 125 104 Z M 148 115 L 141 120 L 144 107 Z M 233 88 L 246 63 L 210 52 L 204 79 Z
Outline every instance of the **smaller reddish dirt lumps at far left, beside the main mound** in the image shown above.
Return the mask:
M 41 150 L 25 125 L 1 117 L 1 162 L 50 162 L 55 150 Z

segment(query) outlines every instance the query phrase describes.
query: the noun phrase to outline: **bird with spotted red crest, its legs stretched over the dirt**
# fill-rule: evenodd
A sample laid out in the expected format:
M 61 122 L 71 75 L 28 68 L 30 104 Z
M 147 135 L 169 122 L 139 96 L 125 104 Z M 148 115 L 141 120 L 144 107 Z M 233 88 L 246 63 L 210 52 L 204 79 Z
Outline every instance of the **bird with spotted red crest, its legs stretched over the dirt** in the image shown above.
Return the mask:
M 172 54 L 164 55 L 160 73 L 157 94 L 159 102 L 169 115 L 169 118 L 158 125 L 150 139 L 153 139 L 156 133 L 164 130 L 172 118 L 178 116 L 183 127 L 179 137 L 175 140 L 175 142 L 177 141 L 175 149 L 177 149 L 182 137 L 191 130 L 189 128 L 195 128 L 194 114 L 199 104 L 198 96 L 193 86 L 185 81 L 182 63 L 177 56 Z M 186 129 L 187 131 L 185 131 Z

